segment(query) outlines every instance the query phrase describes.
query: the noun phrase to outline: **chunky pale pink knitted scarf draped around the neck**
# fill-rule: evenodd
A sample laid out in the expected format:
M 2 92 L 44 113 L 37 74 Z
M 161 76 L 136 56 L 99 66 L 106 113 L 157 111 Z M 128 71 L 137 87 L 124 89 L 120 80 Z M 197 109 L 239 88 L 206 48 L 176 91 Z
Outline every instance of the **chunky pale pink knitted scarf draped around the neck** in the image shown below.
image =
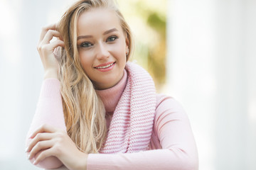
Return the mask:
M 139 65 L 127 62 L 127 85 L 114 110 L 100 153 L 132 153 L 148 149 L 156 110 L 154 81 Z

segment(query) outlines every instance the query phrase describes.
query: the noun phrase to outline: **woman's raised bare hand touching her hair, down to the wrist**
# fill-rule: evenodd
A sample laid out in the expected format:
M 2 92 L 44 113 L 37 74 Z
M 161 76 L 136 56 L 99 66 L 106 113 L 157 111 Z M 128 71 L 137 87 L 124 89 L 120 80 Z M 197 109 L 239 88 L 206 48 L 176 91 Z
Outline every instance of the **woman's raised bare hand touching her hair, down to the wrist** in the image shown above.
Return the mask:
M 53 37 L 57 40 L 50 41 Z M 43 63 L 46 78 L 58 79 L 58 61 L 55 59 L 53 51 L 55 47 L 64 47 L 64 42 L 60 33 L 56 30 L 56 24 L 42 28 L 37 50 Z

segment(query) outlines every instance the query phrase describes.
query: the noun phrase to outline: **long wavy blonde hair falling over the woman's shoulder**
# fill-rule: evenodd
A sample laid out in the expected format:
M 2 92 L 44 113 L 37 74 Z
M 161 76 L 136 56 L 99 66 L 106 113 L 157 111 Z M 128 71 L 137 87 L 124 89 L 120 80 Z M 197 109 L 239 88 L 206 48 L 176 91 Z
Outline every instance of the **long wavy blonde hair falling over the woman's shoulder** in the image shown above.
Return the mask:
M 77 47 L 78 17 L 82 12 L 92 8 L 110 8 L 117 14 L 129 40 L 130 52 L 127 60 L 132 52 L 130 28 L 112 0 L 77 1 L 68 8 L 58 23 L 58 31 L 65 42 L 65 49 L 58 59 L 65 125 L 70 138 L 78 149 L 85 153 L 98 153 L 107 134 L 105 106 L 97 96 L 92 81 L 82 69 Z

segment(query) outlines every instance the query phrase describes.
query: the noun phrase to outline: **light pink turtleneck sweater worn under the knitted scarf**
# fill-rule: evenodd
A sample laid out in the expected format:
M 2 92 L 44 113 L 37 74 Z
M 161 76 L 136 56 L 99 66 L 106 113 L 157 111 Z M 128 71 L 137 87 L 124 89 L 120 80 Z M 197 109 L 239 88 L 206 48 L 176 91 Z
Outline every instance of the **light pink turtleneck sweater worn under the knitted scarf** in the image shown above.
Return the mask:
M 105 104 L 107 126 L 126 83 L 127 73 L 124 71 L 124 77 L 116 86 L 97 91 Z M 43 81 L 28 134 L 44 123 L 65 129 L 58 79 Z M 49 168 L 48 162 L 39 165 Z M 54 159 L 49 164 L 54 167 Z M 198 169 L 196 143 L 186 113 L 174 98 L 157 94 L 149 150 L 130 154 L 89 154 L 87 169 Z

